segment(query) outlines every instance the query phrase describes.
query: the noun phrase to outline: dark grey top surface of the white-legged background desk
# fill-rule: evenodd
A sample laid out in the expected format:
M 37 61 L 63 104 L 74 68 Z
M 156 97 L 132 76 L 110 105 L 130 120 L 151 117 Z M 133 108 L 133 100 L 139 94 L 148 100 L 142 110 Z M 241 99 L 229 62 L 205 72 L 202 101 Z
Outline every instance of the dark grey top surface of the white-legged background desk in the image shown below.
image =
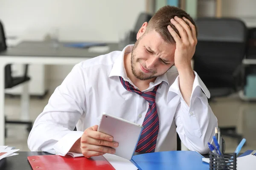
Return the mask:
M 70 42 L 60 42 L 58 48 L 54 48 L 51 42 L 23 41 L 15 47 L 0 52 L 0 57 L 96 57 L 108 54 L 111 51 L 120 51 L 117 43 L 106 43 L 109 46 L 109 50 L 104 53 L 90 52 L 88 48 L 65 47 L 65 43 Z

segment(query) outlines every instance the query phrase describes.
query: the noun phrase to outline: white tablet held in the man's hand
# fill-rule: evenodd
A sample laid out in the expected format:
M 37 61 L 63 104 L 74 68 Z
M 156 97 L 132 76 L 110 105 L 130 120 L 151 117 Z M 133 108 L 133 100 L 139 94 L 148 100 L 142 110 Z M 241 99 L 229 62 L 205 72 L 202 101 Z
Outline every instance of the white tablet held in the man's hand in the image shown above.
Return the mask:
M 113 141 L 119 143 L 118 147 L 113 147 L 114 155 L 128 160 L 134 154 L 142 130 L 142 125 L 106 113 L 102 114 L 98 127 L 99 132 L 113 136 Z

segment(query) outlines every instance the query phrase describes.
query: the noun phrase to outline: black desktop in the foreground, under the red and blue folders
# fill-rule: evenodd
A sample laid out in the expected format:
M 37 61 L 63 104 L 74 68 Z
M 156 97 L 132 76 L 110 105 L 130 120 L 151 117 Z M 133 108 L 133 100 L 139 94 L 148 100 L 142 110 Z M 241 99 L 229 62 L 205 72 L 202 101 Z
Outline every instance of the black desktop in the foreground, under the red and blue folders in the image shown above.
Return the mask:
M 32 168 L 30 167 L 29 161 L 27 159 L 28 156 L 51 155 L 50 153 L 46 153 L 46 152 L 15 152 L 15 153 L 18 153 L 19 155 L 10 156 L 1 160 L 3 162 L 1 163 L 0 170 L 32 170 Z M 206 158 L 209 158 L 208 155 L 203 155 L 203 156 Z

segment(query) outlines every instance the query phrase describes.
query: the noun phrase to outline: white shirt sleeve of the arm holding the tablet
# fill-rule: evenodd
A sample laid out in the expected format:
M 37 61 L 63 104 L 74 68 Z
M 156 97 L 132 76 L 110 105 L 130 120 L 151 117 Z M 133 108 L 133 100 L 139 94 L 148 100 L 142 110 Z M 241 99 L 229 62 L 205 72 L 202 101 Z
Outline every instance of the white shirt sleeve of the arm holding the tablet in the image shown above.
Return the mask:
M 73 131 L 85 112 L 85 83 L 81 66 L 76 65 L 58 86 L 29 134 L 32 151 L 65 155 L 83 132 Z

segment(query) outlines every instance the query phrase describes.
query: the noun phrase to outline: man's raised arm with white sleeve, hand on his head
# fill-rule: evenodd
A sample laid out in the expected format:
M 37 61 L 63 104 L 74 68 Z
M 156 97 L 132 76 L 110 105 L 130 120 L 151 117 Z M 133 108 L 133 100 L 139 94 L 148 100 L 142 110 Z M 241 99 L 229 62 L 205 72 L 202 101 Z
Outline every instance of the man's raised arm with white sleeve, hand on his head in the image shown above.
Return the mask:
M 175 113 L 175 124 L 181 141 L 189 150 L 208 153 L 207 142 L 212 143 L 217 119 L 208 104 L 209 91 L 198 75 L 192 71 L 191 59 L 197 44 L 195 26 L 185 17 L 175 17 L 171 23 L 180 36 L 168 26 L 176 42 L 175 66 L 179 76 L 171 89 L 178 89 L 180 105 Z M 205 92 L 205 95 L 202 91 Z

